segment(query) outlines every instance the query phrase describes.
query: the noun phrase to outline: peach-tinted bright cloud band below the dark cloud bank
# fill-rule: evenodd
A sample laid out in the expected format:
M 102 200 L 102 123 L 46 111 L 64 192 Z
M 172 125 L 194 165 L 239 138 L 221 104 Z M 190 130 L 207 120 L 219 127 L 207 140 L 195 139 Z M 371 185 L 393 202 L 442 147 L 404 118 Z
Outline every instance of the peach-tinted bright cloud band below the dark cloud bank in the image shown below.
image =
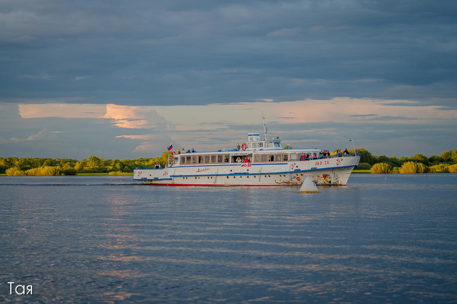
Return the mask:
M 433 132 L 439 132 L 455 127 L 457 123 L 457 110 L 453 109 L 425 106 L 414 100 L 353 98 L 288 102 L 259 98 L 251 102 L 187 106 L 19 104 L 18 110 L 21 119 L 97 119 L 99 124 L 106 124 L 113 130 L 112 140 L 130 140 L 134 155 L 156 154 L 170 142 L 184 148 L 231 148 L 244 141 L 247 132 L 263 133 L 262 115 L 266 118 L 269 135 L 280 136 L 284 143 L 293 146 L 327 145 L 341 137 L 368 136 L 366 140 L 373 140 L 375 134 L 379 138 L 386 138 L 385 134 L 391 134 L 389 137 L 411 136 L 413 131 L 402 133 L 402 129 L 410 130 L 406 126 L 419 125 L 423 129 L 429 125 L 436 130 Z M 349 124 L 349 129 L 337 127 Z M 33 141 L 46 138 L 45 133 L 57 136 L 71 132 L 61 126 L 52 128 L 55 131 L 42 130 L 25 137 L 11 137 L 8 141 Z M 372 130 L 370 135 L 361 135 L 366 134 L 366 130 Z

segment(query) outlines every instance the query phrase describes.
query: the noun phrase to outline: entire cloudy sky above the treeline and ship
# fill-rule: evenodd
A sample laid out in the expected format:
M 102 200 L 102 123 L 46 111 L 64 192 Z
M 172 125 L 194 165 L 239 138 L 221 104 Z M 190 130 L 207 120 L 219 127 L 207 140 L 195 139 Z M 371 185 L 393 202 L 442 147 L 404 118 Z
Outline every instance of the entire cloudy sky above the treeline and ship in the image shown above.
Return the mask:
M 0 157 L 155 157 L 251 131 L 457 148 L 455 1 L 0 1 Z

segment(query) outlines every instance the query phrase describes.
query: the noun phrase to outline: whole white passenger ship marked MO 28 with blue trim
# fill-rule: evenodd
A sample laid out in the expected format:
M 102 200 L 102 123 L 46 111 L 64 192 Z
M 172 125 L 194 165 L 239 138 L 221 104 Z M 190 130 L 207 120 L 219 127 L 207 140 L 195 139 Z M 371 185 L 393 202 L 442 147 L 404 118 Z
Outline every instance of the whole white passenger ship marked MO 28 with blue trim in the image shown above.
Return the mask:
M 236 149 L 182 152 L 171 154 L 165 168 L 135 169 L 134 180 L 167 186 L 279 186 L 300 185 L 305 174 L 312 174 L 317 185 L 346 185 L 360 161 L 358 154 L 319 157 L 317 148 L 282 148 L 279 137 L 267 139 L 266 129 L 264 139 L 249 133 Z

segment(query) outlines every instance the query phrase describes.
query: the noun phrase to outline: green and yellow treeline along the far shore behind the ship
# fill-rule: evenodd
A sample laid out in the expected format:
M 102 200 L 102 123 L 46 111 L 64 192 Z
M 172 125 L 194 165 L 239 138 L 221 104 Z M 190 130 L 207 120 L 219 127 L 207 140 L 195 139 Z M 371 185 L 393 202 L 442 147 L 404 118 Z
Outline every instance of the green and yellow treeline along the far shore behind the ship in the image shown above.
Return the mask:
M 290 146 L 289 146 L 290 147 Z M 353 153 L 353 150 L 350 151 Z M 332 153 L 335 155 L 336 150 Z M 449 167 L 457 163 L 457 149 L 444 151 L 439 156 L 432 155 L 426 157 L 421 154 L 416 154 L 411 157 L 386 157 L 384 155 L 373 156 L 370 151 L 364 148 L 358 149 L 361 155 L 358 169 L 371 170 L 372 167 L 382 167 L 381 171 L 389 171 L 385 173 L 395 173 L 400 171 L 405 163 L 422 164 L 426 167 L 421 167 L 420 170 L 425 172 L 449 172 Z M 8 175 L 75 175 L 77 173 L 109 173 L 121 172 L 131 173 L 135 168 L 154 168 L 158 162 L 162 168 L 165 167 L 168 161 L 169 152 L 162 153 L 161 156 L 155 158 L 139 158 L 135 160 L 105 160 L 96 156 L 89 156 L 88 159 L 81 161 L 74 159 L 51 159 L 51 158 L 17 158 L 7 157 L 0 158 L 0 173 Z M 385 164 L 385 165 L 376 165 Z M 408 165 L 410 166 L 410 165 Z M 416 167 L 417 167 L 416 166 Z M 457 166 L 456 166 L 457 167 Z M 397 169 L 395 169 L 397 168 Z M 426 169 L 423 169 L 426 168 Z M 376 169 L 378 170 L 378 169 Z M 374 171 L 376 171 L 374 170 Z M 405 169 L 406 170 L 406 169 Z M 452 170 L 452 169 L 451 169 Z M 373 170 L 372 170 L 373 171 Z M 375 173 L 375 172 L 373 172 Z M 377 172 L 376 173 L 382 173 Z M 413 172 L 411 172 L 413 173 Z

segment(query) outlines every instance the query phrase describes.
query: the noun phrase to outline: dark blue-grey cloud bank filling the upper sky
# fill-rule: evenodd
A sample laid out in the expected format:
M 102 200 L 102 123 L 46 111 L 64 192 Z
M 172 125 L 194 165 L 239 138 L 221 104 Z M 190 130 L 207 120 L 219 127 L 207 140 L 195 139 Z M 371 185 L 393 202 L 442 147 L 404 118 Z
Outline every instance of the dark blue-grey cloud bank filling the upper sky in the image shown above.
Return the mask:
M 456 106 L 455 1 L 0 3 L 0 101 Z

